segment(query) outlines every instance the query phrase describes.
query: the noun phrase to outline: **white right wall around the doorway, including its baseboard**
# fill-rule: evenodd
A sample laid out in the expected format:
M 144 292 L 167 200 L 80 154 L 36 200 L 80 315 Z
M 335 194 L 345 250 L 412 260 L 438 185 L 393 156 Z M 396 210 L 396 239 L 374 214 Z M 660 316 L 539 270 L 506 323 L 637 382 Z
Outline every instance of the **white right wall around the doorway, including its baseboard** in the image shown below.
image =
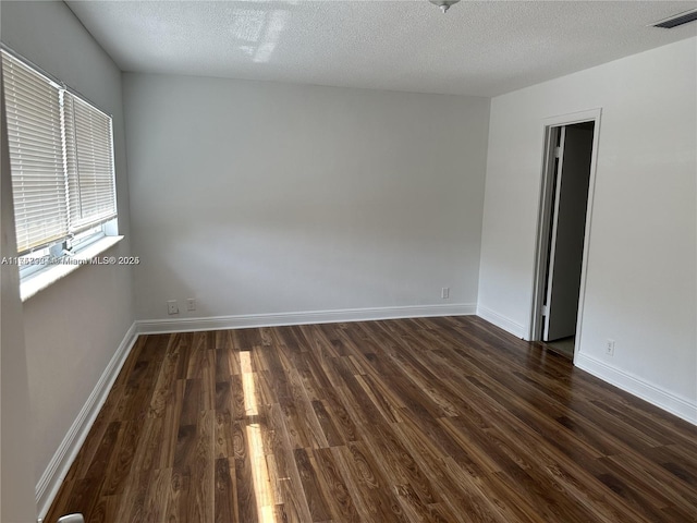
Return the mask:
M 542 121 L 602 108 L 576 364 L 697 423 L 696 54 L 690 38 L 492 100 L 479 309 L 527 335 Z

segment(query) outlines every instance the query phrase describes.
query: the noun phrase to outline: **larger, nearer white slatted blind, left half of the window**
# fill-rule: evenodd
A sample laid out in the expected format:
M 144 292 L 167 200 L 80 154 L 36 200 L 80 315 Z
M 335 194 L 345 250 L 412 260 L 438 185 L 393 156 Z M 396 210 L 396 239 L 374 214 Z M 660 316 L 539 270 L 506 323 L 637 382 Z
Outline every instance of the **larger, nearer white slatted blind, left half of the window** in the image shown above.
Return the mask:
M 2 53 L 20 254 L 68 234 L 60 88 Z

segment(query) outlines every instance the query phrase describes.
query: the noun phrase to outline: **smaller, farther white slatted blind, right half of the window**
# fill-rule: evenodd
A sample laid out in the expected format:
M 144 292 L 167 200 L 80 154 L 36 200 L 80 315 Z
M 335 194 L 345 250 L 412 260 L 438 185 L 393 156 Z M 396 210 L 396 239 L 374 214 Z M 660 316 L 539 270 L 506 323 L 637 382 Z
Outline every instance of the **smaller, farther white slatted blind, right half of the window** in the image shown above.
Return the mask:
M 70 93 L 63 98 L 70 232 L 117 216 L 111 118 Z

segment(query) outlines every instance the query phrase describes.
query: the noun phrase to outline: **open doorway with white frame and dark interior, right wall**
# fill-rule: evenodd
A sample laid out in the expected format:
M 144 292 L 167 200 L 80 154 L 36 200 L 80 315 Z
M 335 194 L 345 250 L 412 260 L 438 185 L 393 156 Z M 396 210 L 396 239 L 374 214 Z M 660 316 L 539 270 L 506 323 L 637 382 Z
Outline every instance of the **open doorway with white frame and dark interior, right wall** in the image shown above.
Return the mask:
M 530 339 L 579 346 L 600 111 L 546 125 Z

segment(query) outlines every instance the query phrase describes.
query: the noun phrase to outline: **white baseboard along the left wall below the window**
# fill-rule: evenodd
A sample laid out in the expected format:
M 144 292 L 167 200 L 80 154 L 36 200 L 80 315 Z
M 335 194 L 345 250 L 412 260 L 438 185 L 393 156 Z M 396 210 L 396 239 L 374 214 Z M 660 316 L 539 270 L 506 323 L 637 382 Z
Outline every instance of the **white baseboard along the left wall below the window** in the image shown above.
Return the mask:
M 95 423 L 99 411 L 107 401 L 107 396 L 117 376 L 119 376 L 119 372 L 125 363 L 136 338 L 136 325 L 134 323 L 123 337 L 123 341 L 99 377 L 99 381 L 97 381 L 89 398 L 87 398 L 87 401 L 68 430 L 63 441 L 61 441 L 60 447 L 53 454 L 46 471 L 41 474 L 36 485 L 36 507 L 39 518 L 45 518 L 51 508 L 53 498 L 58 495 L 61 483 L 65 478 L 73 461 L 75 461 L 77 452 L 85 442 L 85 438 L 87 438 L 87 434 Z

